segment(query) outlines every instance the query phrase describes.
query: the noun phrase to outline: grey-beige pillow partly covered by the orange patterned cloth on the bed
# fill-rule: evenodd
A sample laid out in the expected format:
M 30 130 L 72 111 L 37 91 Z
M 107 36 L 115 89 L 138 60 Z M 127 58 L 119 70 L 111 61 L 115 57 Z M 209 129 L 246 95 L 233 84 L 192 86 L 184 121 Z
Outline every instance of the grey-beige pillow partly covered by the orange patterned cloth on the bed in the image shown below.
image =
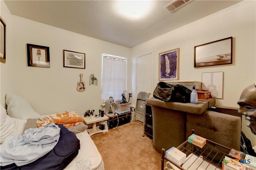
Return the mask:
M 40 120 L 40 119 L 27 119 L 27 123 L 26 123 L 26 125 L 24 127 L 23 133 L 27 129 L 38 128 L 38 123 L 36 123 L 37 120 Z M 87 128 L 88 128 L 88 126 L 85 125 L 84 123 L 82 123 L 80 125 L 69 127 L 68 130 L 76 134 L 76 133 L 80 133 L 80 132 L 85 131 Z

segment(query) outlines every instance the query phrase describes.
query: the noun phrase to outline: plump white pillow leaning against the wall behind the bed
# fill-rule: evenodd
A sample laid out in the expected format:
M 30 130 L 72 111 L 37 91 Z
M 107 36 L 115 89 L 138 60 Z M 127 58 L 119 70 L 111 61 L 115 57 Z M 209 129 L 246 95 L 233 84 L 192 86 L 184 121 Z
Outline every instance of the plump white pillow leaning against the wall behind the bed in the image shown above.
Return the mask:
M 34 109 L 32 109 L 26 100 L 18 95 L 11 93 L 6 94 L 5 102 L 7 105 L 7 114 L 10 115 L 10 117 L 27 120 L 29 118 L 38 118 L 40 116 Z

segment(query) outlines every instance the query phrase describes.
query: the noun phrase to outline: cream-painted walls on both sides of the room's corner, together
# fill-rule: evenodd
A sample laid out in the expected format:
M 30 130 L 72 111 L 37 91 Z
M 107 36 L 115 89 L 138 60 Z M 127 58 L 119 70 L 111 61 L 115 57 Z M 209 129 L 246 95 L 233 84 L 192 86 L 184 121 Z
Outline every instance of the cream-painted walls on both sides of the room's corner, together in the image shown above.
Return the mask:
M 223 99 L 216 105 L 238 107 L 242 90 L 256 83 L 256 10 L 255 1 L 243 1 L 184 27 L 170 31 L 132 49 L 107 43 L 35 21 L 12 16 L 1 0 L 1 16 L 7 24 L 6 63 L 1 63 L 1 104 L 12 92 L 28 100 L 40 114 L 74 110 L 82 115 L 99 109 L 101 102 L 101 54 L 128 58 L 128 93 L 136 102 L 136 57 L 153 52 L 154 79 L 158 83 L 158 53 L 180 48 L 180 80 L 201 81 L 202 72 L 224 72 Z M 194 68 L 194 46 L 232 36 L 233 63 Z M 50 47 L 50 68 L 28 67 L 26 43 Z M 86 69 L 64 68 L 62 50 L 86 53 Z M 132 56 L 132 61 L 129 60 Z M 79 74 L 86 91 L 76 90 Z M 98 86 L 89 86 L 90 74 Z M 245 127 L 246 136 L 256 145 L 255 136 Z M 228 133 L 228 132 L 227 132 Z

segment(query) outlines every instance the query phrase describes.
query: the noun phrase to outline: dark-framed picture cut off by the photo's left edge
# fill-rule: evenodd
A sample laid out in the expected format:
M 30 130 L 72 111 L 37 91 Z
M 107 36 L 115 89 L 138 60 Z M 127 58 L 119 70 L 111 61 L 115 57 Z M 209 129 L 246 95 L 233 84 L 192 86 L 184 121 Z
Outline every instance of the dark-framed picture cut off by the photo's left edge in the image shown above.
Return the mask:
M 0 17 L 0 61 L 5 63 L 6 60 L 6 23 Z

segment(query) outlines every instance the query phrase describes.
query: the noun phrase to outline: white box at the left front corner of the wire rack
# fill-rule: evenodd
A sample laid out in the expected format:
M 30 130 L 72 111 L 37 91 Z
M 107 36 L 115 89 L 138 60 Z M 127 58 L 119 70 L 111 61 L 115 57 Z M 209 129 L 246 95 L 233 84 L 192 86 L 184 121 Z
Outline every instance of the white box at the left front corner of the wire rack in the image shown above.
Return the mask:
M 172 147 L 165 152 L 165 156 L 169 158 L 171 161 L 175 162 L 179 166 L 183 164 L 186 160 L 186 154 L 182 151 L 178 150 L 175 147 Z

